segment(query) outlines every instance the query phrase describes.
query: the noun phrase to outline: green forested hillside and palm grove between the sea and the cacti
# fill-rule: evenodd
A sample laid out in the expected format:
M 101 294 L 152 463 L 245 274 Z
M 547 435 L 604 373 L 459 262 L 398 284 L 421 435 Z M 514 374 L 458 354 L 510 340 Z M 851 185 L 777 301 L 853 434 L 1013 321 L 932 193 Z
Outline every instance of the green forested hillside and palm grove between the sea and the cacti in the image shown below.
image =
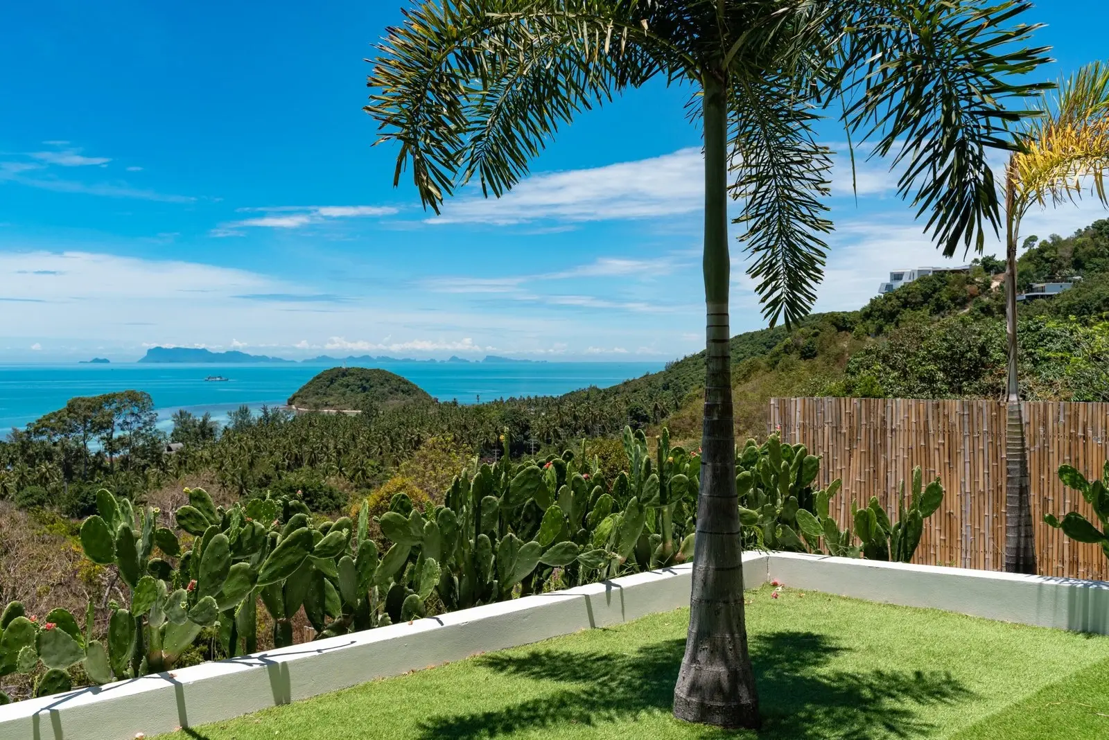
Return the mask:
M 1024 397 L 1109 400 L 1109 220 L 1069 237 L 1029 237 L 1024 247 L 1021 288 L 1081 278 L 1055 298 L 1020 306 Z M 985 257 L 969 271 L 920 278 L 856 311 L 733 337 L 736 432 L 741 439 L 765 434 L 766 402 L 775 395 L 1000 398 L 1003 273 L 1003 263 Z M 0 499 L 83 516 L 101 485 L 141 496 L 201 475 L 230 494 L 302 491 L 334 510 L 388 483 L 421 450 L 435 449 L 431 456 L 447 461 L 520 458 L 582 438 L 603 440 L 624 425 L 662 423 L 675 439 L 695 440 L 703 378 L 699 352 L 611 388 L 462 405 L 437 402 L 384 370 L 333 368 L 291 402 L 364 413 L 294 415 L 271 408 L 252 414 L 243 408 L 221 424 L 180 411 L 169 435 L 155 426 L 146 393 L 74 398 L 0 442 Z M 183 448 L 166 454 L 167 441 Z

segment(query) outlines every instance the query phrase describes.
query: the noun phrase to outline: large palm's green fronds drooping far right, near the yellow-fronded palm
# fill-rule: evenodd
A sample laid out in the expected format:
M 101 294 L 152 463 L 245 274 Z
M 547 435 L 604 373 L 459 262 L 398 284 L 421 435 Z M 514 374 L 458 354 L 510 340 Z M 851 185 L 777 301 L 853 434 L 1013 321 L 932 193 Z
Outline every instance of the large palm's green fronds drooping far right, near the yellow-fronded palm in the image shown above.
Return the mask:
M 1027 0 L 847 0 L 834 19 L 842 51 L 833 82 L 847 129 L 893 153 L 898 194 L 928 215 L 925 230 L 955 254 L 981 249 L 1000 224 L 990 148 L 1014 150 L 1009 127 L 1031 111 L 1007 104 L 1049 85 L 1015 83 L 1047 61 L 1027 48 L 1037 25 L 1014 22 Z

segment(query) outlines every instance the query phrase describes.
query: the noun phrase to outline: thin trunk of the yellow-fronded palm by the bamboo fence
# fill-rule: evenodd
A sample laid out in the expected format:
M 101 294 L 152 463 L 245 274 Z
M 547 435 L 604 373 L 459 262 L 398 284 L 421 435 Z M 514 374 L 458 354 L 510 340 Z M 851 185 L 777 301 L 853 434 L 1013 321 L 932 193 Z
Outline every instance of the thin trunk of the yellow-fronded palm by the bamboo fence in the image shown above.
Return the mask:
M 1031 494 L 1025 449 L 1025 419 L 1020 409 L 1017 378 L 1017 214 L 1014 210 L 1016 183 L 1011 167 L 1005 178 L 1005 314 L 1009 370 L 1005 399 L 1005 571 L 1036 573 Z

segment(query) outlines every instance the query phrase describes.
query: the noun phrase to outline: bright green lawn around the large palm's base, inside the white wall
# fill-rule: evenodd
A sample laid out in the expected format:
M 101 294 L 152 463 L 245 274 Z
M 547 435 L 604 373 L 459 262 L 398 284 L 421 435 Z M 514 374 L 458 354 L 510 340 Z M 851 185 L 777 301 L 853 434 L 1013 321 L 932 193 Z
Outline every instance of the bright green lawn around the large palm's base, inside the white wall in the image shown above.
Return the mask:
M 1109 638 L 769 587 L 749 600 L 757 733 L 670 715 L 679 609 L 163 740 L 1109 737 Z

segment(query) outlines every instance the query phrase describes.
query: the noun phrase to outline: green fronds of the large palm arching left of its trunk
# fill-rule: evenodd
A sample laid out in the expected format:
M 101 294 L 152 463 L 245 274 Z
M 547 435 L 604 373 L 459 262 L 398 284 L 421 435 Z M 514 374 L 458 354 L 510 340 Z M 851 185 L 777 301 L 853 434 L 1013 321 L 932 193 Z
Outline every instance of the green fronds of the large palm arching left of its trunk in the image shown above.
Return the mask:
M 378 44 L 365 111 L 397 141 L 425 206 L 477 175 L 501 195 L 560 124 L 662 71 L 653 0 L 445 0 Z M 671 50 L 673 51 L 673 50 Z M 673 52 L 676 53 L 676 52 Z

